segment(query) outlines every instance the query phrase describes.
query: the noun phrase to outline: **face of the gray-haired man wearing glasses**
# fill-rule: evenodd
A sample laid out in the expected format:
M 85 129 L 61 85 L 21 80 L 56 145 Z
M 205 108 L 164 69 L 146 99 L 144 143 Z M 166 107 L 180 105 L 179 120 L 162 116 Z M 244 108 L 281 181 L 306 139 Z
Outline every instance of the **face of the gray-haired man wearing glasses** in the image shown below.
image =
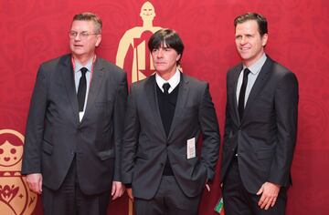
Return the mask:
M 101 43 L 101 35 L 96 35 L 93 21 L 75 20 L 72 22 L 70 32 L 78 33 L 77 36 L 69 37 L 69 48 L 72 55 L 77 58 L 90 58 L 95 49 Z M 83 37 L 80 34 L 88 34 Z

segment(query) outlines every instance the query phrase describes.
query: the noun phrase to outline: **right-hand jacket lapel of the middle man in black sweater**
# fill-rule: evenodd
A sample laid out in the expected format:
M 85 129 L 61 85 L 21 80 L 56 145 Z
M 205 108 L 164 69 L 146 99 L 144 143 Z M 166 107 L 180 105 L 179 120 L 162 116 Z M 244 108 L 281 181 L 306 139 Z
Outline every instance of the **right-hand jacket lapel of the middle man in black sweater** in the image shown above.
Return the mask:
M 180 116 L 181 114 L 183 114 L 182 111 L 183 111 L 183 108 L 186 104 L 186 100 L 187 100 L 188 92 L 189 92 L 188 83 L 189 83 L 189 81 L 187 80 L 186 76 L 184 76 L 184 74 L 181 73 L 181 81 L 179 83 L 177 103 L 176 103 L 176 106 L 175 106 L 175 114 L 174 114 L 172 124 L 170 126 L 168 139 L 171 138 L 171 136 L 173 135 L 173 132 L 174 132 L 175 127 L 177 125 L 177 120 L 178 120 L 177 117 Z

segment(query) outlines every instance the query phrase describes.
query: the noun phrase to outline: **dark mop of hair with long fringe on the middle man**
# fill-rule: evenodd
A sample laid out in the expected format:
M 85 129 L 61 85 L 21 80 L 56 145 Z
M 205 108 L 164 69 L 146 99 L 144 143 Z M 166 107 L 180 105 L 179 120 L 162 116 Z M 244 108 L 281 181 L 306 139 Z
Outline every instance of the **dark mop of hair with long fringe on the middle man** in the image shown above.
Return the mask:
M 165 44 L 166 46 L 175 49 L 176 53 L 180 55 L 179 60 L 177 60 L 176 64 L 180 64 L 180 60 L 183 56 L 184 44 L 182 39 L 178 36 L 178 34 L 173 29 L 160 29 L 151 36 L 148 47 L 150 52 L 152 52 L 155 48 L 159 48 L 161 45 Z

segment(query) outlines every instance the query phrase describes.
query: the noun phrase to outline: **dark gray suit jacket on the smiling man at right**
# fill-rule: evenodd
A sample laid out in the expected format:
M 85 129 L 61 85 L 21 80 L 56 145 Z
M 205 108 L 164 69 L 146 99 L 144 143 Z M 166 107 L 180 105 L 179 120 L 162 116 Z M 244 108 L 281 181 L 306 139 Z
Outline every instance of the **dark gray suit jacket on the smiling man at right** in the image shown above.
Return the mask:
M 242 64 L 228 71 L 221 181 L 238 146 L 243 185 L 256 193 L 265 181 L 290 184 L 296 142 L 298 82 L 289 69 L 268 56 L 239 119 L 237 83 Z

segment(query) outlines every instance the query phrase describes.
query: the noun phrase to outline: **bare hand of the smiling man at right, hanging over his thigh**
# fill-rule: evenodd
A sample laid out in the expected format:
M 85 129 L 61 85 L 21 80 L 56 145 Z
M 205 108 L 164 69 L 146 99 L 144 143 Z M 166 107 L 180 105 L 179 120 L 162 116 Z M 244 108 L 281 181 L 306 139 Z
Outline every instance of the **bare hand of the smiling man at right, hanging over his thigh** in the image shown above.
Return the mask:
M 260 201 L 258 203 L 260 209 L 268 210 L 270 206 L 273 207 L 277 200 L 279 191 L 280 185 L 273 184 L 271 182 L 263 183 L 260 190 L 257 192 L 257 195 L 261 194 Z

